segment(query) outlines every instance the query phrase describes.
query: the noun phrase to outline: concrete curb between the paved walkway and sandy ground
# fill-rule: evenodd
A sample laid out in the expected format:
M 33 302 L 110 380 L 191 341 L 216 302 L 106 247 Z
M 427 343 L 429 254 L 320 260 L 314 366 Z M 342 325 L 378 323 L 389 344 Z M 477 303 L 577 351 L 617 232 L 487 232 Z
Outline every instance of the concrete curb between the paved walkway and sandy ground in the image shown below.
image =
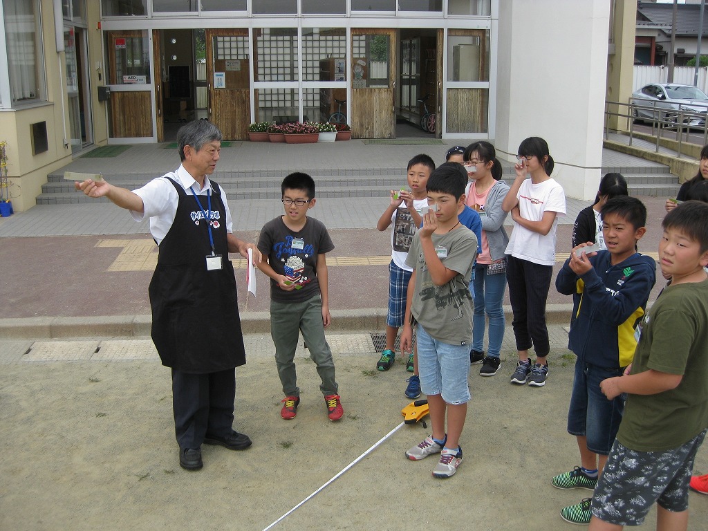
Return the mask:
M 549 324 L 570 321 L 572 304 L 549 304 Z M 506 321 L 511 322 L 511 307 L 505 306 Z M 108 315 L 88 317 L 27 317 L 0 319 L 0 339 L 65 339 L 93 337 L 148 337 L 152 317 L 143 315 Z M 244 334 L 270 334 L 269 312 L 241 312 Z M 385 309 L 355 309 L 332 312 L 329 333 L 369 332 L 386 329 Z

